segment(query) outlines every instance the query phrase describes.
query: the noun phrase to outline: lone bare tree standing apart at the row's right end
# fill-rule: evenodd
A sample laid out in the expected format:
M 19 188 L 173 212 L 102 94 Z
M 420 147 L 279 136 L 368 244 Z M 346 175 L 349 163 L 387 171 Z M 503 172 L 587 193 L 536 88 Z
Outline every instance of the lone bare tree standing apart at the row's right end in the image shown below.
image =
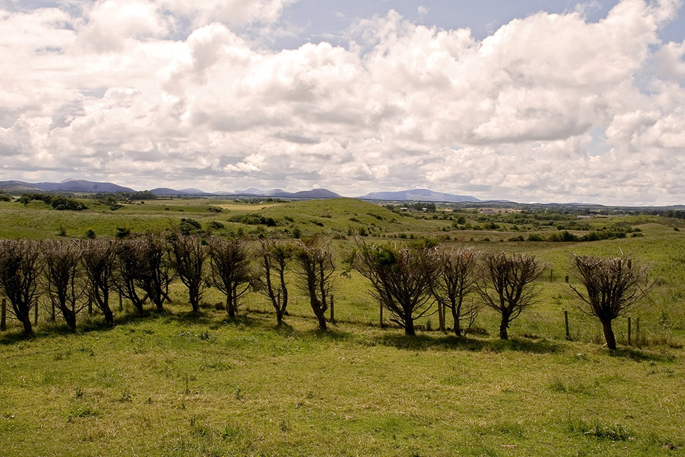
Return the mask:
M 637 267 L 629 256 L 599 258 L 571 254 L 573 272 L 585 291 L 571 285 L 584 306 L 580 310 L 599 318 L 604 339 L 609 349 L 616 349 L 616 338 L 611 321 L 625 314 L 645 296 L 651 284 L 647 269 Z

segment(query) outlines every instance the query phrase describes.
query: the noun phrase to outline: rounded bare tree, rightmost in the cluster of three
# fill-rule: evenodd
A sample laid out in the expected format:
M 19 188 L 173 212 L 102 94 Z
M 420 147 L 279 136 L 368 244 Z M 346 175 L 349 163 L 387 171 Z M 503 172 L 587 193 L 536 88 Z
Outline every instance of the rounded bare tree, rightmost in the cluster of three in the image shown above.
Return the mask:
M 533 255 L 500 252 L 485 256 L 483 278 L 477 287 L 485 304 L 501 314 L 499 338 L 508 339 L 509 323 L 534 304 L 534 282 L 542 272 Z

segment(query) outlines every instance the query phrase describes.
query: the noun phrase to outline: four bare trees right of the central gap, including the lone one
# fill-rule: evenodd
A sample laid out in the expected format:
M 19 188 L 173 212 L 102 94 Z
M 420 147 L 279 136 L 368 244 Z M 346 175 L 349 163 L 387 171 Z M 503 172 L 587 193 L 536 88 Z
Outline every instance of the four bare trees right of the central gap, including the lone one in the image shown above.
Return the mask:
M 647 269 L 628 256 L 599 258 L 571 255 L 571 269 L 582 286 L 571 285 L 580 310 L 597 317 L 607 346 L 616 348 L 612 321 L 649 291 Z M 481 254 L 463 247 L 432 243 L 374 245 L 358 241 L 349 264 L 371 282 L 371 295 L 392 314 L 391 320 L 415 334 L 414 321 L 438 304 L 438 322 L 445 326 L 451 310 L 457 336 L 468 330 L 483 306 L 500 319 L 499 336 L 508 339 L 510 323 L 536 303 L 543 264 L 532 254 Z M 466 328 L 462 323 L 466 323 Z

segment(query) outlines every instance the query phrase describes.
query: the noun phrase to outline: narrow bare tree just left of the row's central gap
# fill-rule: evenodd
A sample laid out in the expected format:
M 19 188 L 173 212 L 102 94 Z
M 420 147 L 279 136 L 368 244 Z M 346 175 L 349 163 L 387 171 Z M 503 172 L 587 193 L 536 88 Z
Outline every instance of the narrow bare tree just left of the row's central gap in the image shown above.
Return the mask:
M 295 259 L 299 264 L 297 275 L 300 288 L 307 293 L 312 311 L 319 321 L 319 329 L 326 330 L 326 310 L 333 286 L 336 264 L 330 249 L 330 242 L 309 238 L 297 243 Z

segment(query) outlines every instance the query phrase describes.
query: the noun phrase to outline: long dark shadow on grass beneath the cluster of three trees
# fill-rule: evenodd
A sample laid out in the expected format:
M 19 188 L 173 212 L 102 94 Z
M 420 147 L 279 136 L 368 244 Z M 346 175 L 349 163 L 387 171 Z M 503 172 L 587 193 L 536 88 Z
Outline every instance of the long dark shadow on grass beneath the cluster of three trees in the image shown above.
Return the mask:
M 397 347 L 398 349 L 408 349 L 412 351 L 431 350 L 451 350 L 464 349 L 467 351 L 487 351 L 487 352 L 529 352 L 532 354 L 549 354 L 562 351 L 563 348 L 557 343 L 540 338 L 536 341 L 512 338 L 510 340 L 480 339 L 459 336 L 407 336 L 398 334 L 387 334 L 371 338 L 371 344 L 386 345 Z

